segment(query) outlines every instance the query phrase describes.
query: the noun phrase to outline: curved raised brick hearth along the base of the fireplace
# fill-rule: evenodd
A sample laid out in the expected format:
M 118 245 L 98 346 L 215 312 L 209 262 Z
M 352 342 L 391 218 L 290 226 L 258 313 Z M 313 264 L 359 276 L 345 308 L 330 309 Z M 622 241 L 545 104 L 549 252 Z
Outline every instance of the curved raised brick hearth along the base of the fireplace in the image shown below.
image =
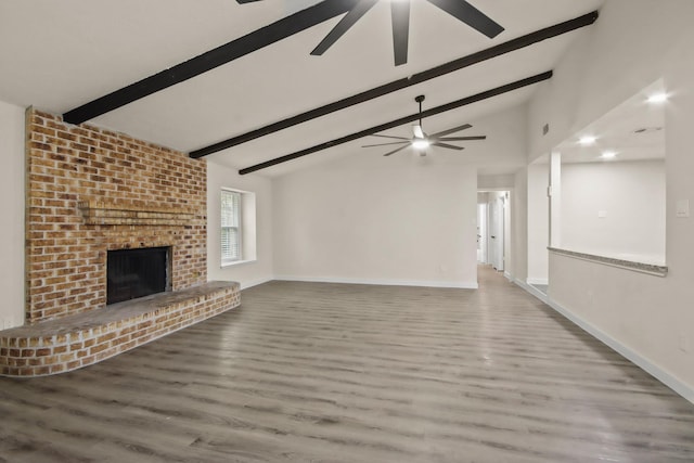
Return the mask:
M 0 331 L 0 374 L 39 376 L 87 366 L 240 304 L 239 283 L 210 282 Z

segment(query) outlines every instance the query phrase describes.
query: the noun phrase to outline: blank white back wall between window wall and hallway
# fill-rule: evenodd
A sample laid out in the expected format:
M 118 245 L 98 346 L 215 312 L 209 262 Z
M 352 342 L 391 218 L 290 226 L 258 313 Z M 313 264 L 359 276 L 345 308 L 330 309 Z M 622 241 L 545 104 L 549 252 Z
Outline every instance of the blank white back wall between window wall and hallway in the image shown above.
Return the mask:
M 358 152 L 273 184 L 278 279 L 476 287 L 475 168 Z

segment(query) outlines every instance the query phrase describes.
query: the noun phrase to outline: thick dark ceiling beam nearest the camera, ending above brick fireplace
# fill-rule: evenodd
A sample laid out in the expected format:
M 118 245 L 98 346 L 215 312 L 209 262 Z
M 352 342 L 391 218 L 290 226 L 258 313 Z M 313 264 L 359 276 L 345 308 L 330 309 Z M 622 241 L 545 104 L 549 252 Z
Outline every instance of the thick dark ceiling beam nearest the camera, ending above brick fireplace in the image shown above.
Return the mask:
M 174 67 L 70 110 L 63 115 L 63 120 L 69 124 L 81 124 L 93 119 L 346 13 L 357 2 L 358 0 L 322 1 Z

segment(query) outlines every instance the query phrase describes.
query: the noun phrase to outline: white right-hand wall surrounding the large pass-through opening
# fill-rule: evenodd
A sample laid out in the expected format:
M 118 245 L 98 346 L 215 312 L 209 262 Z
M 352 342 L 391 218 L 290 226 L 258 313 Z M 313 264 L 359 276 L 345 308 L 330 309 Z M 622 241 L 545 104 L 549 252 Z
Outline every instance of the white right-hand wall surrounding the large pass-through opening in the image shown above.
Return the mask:
M 641 366 L 694 401 L 694 2 L 607 0 L 595 25 L 555 67 L 529 108 L 530 158 L 588 126 L 658 78 L 666 105 L 666 278 L 551 255 L 549 297 Z M 541 136 L 543 124 L 550 133 Z

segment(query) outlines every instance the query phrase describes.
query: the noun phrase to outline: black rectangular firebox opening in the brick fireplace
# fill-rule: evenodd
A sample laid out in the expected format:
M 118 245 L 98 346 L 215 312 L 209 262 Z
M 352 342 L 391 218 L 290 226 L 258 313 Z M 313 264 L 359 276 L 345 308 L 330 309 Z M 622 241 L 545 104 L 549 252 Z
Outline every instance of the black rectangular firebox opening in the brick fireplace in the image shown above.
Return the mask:
M 170 247 L 108 250 L 106 305 L 171 291 Z

